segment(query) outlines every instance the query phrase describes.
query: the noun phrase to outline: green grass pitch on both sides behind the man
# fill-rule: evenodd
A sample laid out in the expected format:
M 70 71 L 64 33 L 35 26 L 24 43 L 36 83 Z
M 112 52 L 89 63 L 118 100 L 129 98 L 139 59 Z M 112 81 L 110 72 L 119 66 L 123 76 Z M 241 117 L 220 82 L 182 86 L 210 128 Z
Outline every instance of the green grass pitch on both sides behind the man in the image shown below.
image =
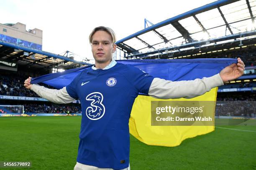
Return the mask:
M 217 121 L 225 122 L 221 127 L 256 131 L 255 125 Z M 81 117 L 0 117 L 0 162 L 32 162 L 32 168 L 2 169 L 72 170 L 80 122 Z M 255 132 L 216 128 L 177 147 L 150 146 L 131 136 L 131 170 L 256 170 L 255 160 Z

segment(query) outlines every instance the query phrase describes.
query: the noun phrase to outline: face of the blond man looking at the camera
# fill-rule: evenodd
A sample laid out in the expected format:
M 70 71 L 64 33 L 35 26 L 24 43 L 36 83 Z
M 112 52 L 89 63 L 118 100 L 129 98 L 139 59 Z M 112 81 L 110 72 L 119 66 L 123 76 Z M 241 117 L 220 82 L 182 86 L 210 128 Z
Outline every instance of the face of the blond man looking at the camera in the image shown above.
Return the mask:
M 116 45 L 112 44 L 111 35 L 105 31 L 97 31 L 92 36 L 92 55 L 95 63 L 108 63 L 112 59 Z

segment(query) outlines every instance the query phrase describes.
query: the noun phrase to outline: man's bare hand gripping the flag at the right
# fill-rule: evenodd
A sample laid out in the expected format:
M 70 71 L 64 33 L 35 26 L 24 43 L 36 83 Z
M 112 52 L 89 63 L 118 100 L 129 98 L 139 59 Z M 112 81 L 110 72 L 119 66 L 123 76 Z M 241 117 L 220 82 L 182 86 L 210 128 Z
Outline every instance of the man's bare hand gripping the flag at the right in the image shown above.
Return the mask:
M 243 64 L 241 58 L 238 58 L 237 60 L 237 64 L 233 63 L 220 71 L 220 77 L 223 82 L 237 79 L 238 77 L 241 77 L 243 75 L 245 65 Z

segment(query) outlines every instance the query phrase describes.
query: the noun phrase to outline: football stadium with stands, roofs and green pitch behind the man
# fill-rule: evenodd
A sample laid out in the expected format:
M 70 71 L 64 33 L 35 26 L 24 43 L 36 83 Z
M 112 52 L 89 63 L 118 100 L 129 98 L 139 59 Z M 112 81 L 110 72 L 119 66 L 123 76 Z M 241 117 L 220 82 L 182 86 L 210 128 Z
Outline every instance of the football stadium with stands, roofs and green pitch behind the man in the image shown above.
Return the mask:
M 240 57 L 246 65 L 243 76 L 216 89 L 210 133 L 184 137 L 175 147 L 131 133 L 132 170 L 256 169 L 255 17 L 256 0 L 218 0 L 156 24 L 145 19 L 143 30 L 115 43 L 113 59 L 128 64 Z M 4 162 L 29 162 L 29 168 L 8 168 L 34 170 L 70 170 L 76 163 L 80 101 L 49 102 L 23 82 L 92 64 L 69 51 L 43 51 L 42 38 L 42 30 L 27 31 L 23 23 L 0 24 L 0 169 Z M 47 81 L 38 84 L 56 88 Z

